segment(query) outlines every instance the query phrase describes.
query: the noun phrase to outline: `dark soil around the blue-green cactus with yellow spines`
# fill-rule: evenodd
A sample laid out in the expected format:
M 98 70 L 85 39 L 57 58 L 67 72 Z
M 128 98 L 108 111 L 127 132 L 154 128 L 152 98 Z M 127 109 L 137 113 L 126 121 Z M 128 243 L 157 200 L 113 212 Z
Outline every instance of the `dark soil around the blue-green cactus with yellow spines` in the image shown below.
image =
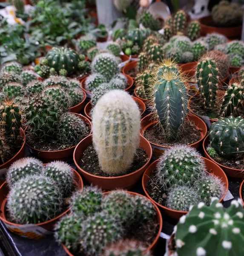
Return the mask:
M 169 142 L 163 133 L 159 132 L 158 125 L 155 125 L 150 130 L 144 131 L 144 137 L 146 140 L 149 140 L 151 143 L 171 147 L 177 144 L 190 145 L 196 143 L 198 140 L 201 140 L 201 129 L 197 130 L 195 123 L 189 120 L 186 120 L 184 123 L 184 130 L 182 131 L 181 137 L 178 140 Z

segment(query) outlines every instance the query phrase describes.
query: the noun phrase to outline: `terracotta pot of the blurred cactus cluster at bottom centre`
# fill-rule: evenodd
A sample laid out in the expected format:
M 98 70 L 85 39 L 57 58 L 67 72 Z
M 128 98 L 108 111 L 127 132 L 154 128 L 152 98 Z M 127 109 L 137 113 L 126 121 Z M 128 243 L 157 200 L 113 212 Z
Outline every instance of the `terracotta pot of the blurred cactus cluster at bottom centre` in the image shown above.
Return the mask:
M 138 193 L 135 193 L 135 192 L 129 192 L 129 191 L 126 191 L 127 193 L 135 196 L 135 195 L 139 195 L 141 197 L 144 197 L 146 198 L 144 195 L 141 195 L 141 194 L 138 194 Z M 104 195 L 108 194 L 110 192 L 105 192 L 103 193 Z M 156 238 L 154 239 L 154 241 L 152 242 L 152 244 L 146 248 L 146 250 L 144 251 L 144 253 L 147 253 L 147 252 L 151 252 L 153 253 L 155 248 L 156 248 L 156 245 L 158 243 L 158 240 L 159 240 L 159 237 L 160 237 L 160 233 L 161 233 L 161 230 L 163 228 L 163 219 L 162 219 L 162 216 L 161 216 L 161 212 L 160 210 L 158 209 L 157 205 L 151 201 L 151 203 L 153 204 L 153 206 L 155 207 L 155 210 L 156 210 L 156 214 L 157 214 L 157 221 L 158 221 L 158 224 L 159 224 L 159 230 L 158 230 L 158 234 L 156 236 Z M 63 249 L 65 250 L 65 252 L 69 255 L 69 256 L 74 256 L 72 253 L 69 252 L 69 250 L 67 249 L 67 247 L 65 245 L 63 245 Z

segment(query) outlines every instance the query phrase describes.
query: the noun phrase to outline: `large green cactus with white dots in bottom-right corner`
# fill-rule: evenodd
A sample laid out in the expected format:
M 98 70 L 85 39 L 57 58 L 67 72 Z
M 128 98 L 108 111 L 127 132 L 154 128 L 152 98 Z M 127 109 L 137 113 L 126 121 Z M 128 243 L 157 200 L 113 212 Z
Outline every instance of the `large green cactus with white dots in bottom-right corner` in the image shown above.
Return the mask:
M 210 207 L 204 203 L 194 206 L 180 218 L 175 240 L 178 256 L 242 255 L 244 243 L 244 210 L 240 201 L 224 208 L 218 200 Z M 207 239 L 206 239 L 207 238 Z

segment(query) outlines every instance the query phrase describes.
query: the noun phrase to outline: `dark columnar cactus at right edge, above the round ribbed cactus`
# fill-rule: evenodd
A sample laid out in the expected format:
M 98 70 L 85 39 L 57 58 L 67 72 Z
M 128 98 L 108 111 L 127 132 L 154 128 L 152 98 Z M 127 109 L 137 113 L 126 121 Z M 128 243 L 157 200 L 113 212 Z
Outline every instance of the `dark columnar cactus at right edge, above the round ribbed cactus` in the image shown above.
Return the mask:
M 222 117 L 235 116 L 238 113 L 238 108 L 244 100 L 244 86 L 238 81 L 228 86 L 224 94 L 224 99 L 221 105 L 220 114 Z

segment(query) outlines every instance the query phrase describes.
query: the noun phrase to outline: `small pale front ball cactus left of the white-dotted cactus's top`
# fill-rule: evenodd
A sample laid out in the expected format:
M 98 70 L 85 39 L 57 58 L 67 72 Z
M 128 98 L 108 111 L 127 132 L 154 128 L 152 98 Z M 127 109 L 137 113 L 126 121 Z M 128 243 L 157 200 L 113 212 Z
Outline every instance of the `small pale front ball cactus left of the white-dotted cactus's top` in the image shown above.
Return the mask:
M 166 205 L 173 210 L 189 211 L 189 207 L 199 201 L 200 197 L 196 189 L 188 186 L 175 186 L 168 192 Z

